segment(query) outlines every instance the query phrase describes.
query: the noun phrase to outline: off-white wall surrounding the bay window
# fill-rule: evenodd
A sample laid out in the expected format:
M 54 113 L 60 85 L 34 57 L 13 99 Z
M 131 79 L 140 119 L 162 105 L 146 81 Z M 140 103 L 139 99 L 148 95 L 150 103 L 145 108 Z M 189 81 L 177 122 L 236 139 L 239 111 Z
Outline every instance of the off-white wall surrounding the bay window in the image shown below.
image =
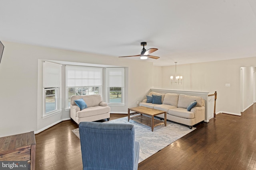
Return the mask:
M 151 62 L 6 41 L 2 43 L 4 53 L 0 64 L 0 137 L 40 131 L 62 119 L 69 118 L 69 111 L 65 111 L 63 100 L 62 113 L 42 119 L 41 59 L 127 67 L 126 105 L 111 107 L 111 111 L 127 112 L 128 107 L 136 107 L 137 101 L 142 101 L 153 86 Z M 62 83 L 63 81 L 62 79 Z M 62 98 L 64 97 L 64 87 L 62 87 Z

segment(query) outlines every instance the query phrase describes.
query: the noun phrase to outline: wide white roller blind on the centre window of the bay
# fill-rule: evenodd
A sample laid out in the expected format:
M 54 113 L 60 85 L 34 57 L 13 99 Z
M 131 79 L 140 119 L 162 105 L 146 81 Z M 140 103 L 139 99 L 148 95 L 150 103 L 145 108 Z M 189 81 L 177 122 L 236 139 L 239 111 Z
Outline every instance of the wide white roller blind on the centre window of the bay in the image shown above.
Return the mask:
M 102 86 L 102 68 L 66 66 L 66 86 Z

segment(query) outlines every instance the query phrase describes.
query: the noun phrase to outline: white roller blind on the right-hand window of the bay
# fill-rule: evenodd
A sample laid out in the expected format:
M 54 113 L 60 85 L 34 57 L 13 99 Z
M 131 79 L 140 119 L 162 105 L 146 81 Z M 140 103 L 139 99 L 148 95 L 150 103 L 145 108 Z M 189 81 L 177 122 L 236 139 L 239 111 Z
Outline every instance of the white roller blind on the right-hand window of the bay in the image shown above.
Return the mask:
M 124 68 L 106 68 L 107 86 L 124 87 Z

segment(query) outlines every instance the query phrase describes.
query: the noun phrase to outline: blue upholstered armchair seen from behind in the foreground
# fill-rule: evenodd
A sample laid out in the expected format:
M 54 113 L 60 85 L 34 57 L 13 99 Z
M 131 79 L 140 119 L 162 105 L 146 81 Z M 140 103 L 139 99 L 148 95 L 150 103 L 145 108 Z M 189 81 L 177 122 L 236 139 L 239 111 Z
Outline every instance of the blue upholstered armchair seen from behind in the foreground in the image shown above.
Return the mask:
M 140 145 L 134 125 L 79 123 L 83 170 L 137 170 Z

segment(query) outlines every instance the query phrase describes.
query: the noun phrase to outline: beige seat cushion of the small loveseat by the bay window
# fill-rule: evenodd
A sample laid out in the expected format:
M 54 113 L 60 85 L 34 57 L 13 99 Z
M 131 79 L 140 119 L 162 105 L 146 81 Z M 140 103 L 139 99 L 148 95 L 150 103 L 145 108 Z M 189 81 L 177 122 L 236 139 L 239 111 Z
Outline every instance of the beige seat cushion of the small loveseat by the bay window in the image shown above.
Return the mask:
M 86 109 L 76 112 L 76 117 L 89 117 L 89 116 L 100 115 L 108 112 L 110 112 L 109 106 L 87 107 Z

